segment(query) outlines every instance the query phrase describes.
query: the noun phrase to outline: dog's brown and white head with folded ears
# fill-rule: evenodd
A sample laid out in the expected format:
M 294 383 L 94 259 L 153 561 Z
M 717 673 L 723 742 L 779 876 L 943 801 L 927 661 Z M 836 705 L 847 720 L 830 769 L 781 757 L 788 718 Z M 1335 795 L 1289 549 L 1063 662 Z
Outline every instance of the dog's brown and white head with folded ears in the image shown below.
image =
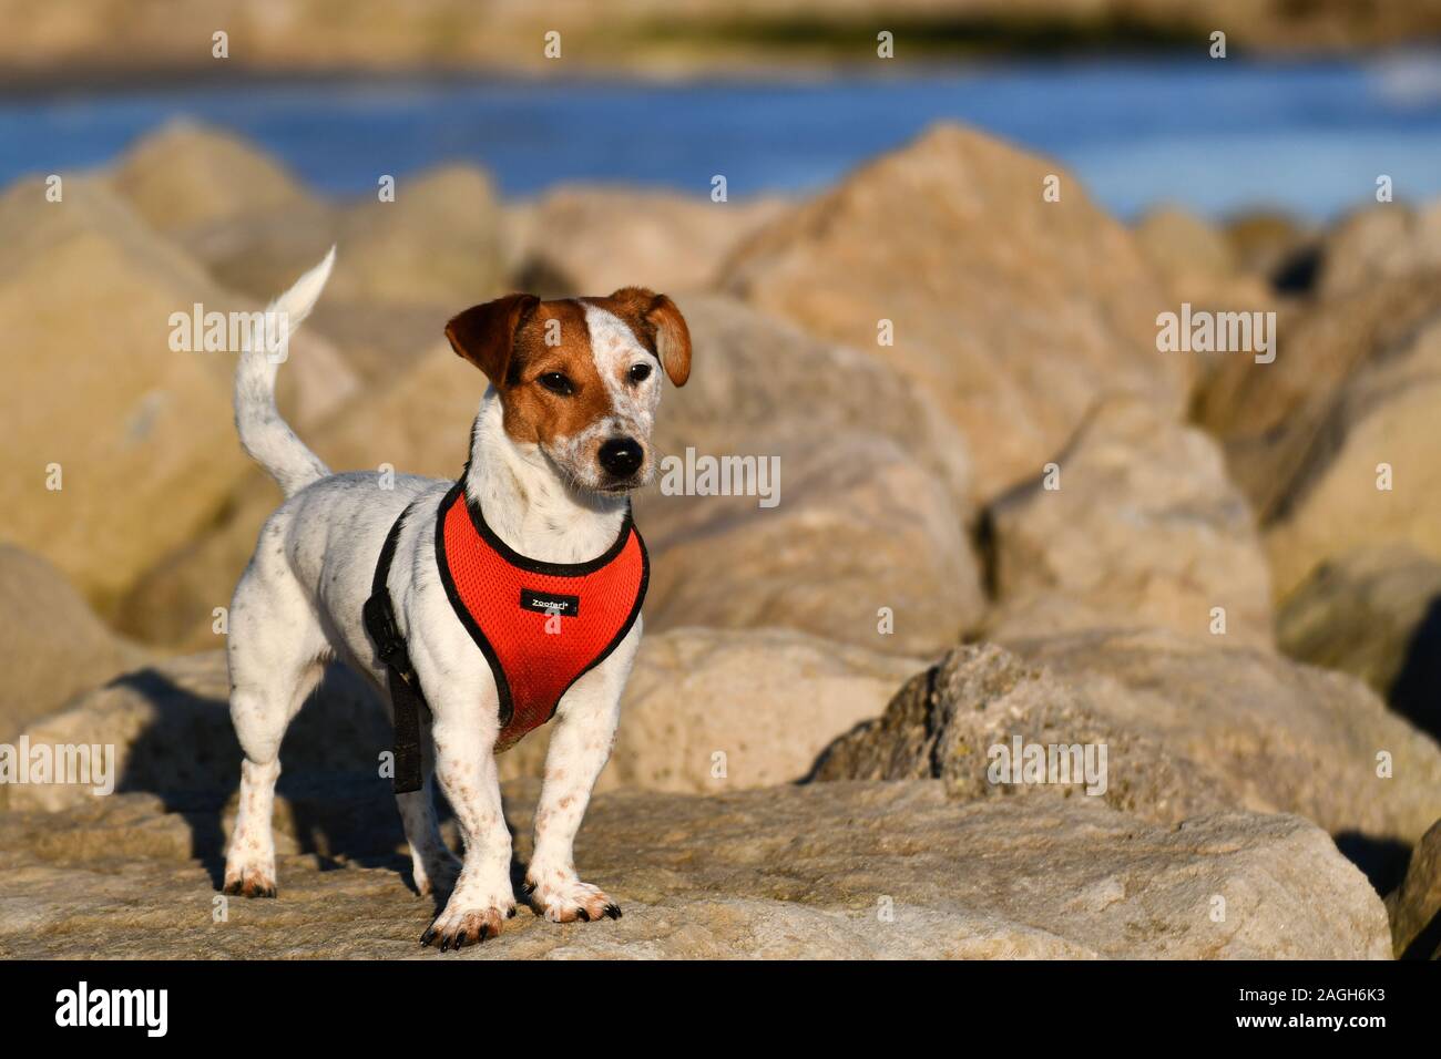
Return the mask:
M 496 388 L 506 434 L 537 447 L 572 486 L 624 493 L 654 474 L 660 375 L 676 386 L 690 376 L 690 331 L 664 294 L 509 294 L 467 308 L 445 337 Z

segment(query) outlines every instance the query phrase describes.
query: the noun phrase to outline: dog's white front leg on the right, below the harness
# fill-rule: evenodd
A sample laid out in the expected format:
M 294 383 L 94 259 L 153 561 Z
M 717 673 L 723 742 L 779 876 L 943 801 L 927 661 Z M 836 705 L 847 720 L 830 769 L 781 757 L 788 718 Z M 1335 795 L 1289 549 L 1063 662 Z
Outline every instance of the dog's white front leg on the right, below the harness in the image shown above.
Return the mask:
M 621 909 L 597 886 L 575 873 L 575 833 L 581 830 L 595 779 L 605 768 L 621 713 L 621 692 L 630 674 L 638 622 L 625 643 L 566 692 L 556 710 L 545 784 L 536 805 L 536 843 L 526 890 L 532 906 L 553 922 L 620 919 Z

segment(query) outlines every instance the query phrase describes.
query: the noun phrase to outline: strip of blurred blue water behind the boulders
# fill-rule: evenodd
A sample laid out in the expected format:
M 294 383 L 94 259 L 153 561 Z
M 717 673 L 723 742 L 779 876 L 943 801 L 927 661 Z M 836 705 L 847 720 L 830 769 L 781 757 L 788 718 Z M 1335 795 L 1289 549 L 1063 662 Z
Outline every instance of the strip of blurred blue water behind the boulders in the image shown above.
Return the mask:
M 331 193 L 445 160 L 509 195 L 566 180 L 732 200 L 831 183 L 941 120 L 1059 158 L 1107 207 L 1170 200 L 1223 216 L 1327 219 L 1373 197 L 1441 195 L 1441 53 L 1363 62 L 1017 62 L 813 84 L 334 81 L 0 99 L 0 183 L 108 161 L 167 118 L 233 128 Z

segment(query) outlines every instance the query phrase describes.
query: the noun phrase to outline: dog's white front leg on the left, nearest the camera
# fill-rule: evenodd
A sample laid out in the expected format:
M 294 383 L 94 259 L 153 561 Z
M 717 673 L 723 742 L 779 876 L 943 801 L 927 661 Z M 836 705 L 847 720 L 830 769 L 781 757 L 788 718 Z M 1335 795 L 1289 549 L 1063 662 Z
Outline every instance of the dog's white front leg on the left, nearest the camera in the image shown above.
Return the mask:
M 491 754 L 496 726 L 484 723 L 481 696 L 432 703 L 435 777 L 455 810 L 465 856 L 445 909 L 421 937 L 441 951 L 500 934 L 516 912 L 510 885 L 510 830 L 500 804 L 500 777 Z

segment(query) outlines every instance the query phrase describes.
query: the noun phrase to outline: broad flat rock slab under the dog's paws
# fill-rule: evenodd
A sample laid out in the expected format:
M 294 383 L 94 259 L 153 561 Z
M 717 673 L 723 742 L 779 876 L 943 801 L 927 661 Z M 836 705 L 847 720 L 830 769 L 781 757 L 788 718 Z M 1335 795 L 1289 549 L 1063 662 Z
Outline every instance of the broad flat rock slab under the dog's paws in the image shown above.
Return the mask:
M 535 792 L 507 788 L 522 859 Z M 602 794 L 576 862 L 625 916 L 559 926 L 522 911 L 499 939 L 442 957 L 415 944 L 432 903 L 393 846 L 297 854 L 305 841 L 281 837 L 280 899 L 231 901 L 216 929 L 218 883 L 190 857 L 215 857 L 220 823 L 146 797 L 0 817 L 0 955 L 1355 960 L 1391 944 L 1380 899 L 1295 817 L 1161 828 L 1095 803 L 960 805 L 940 784 L 898 782 Z M 107 830 L 122 840 L 99 844 Z

